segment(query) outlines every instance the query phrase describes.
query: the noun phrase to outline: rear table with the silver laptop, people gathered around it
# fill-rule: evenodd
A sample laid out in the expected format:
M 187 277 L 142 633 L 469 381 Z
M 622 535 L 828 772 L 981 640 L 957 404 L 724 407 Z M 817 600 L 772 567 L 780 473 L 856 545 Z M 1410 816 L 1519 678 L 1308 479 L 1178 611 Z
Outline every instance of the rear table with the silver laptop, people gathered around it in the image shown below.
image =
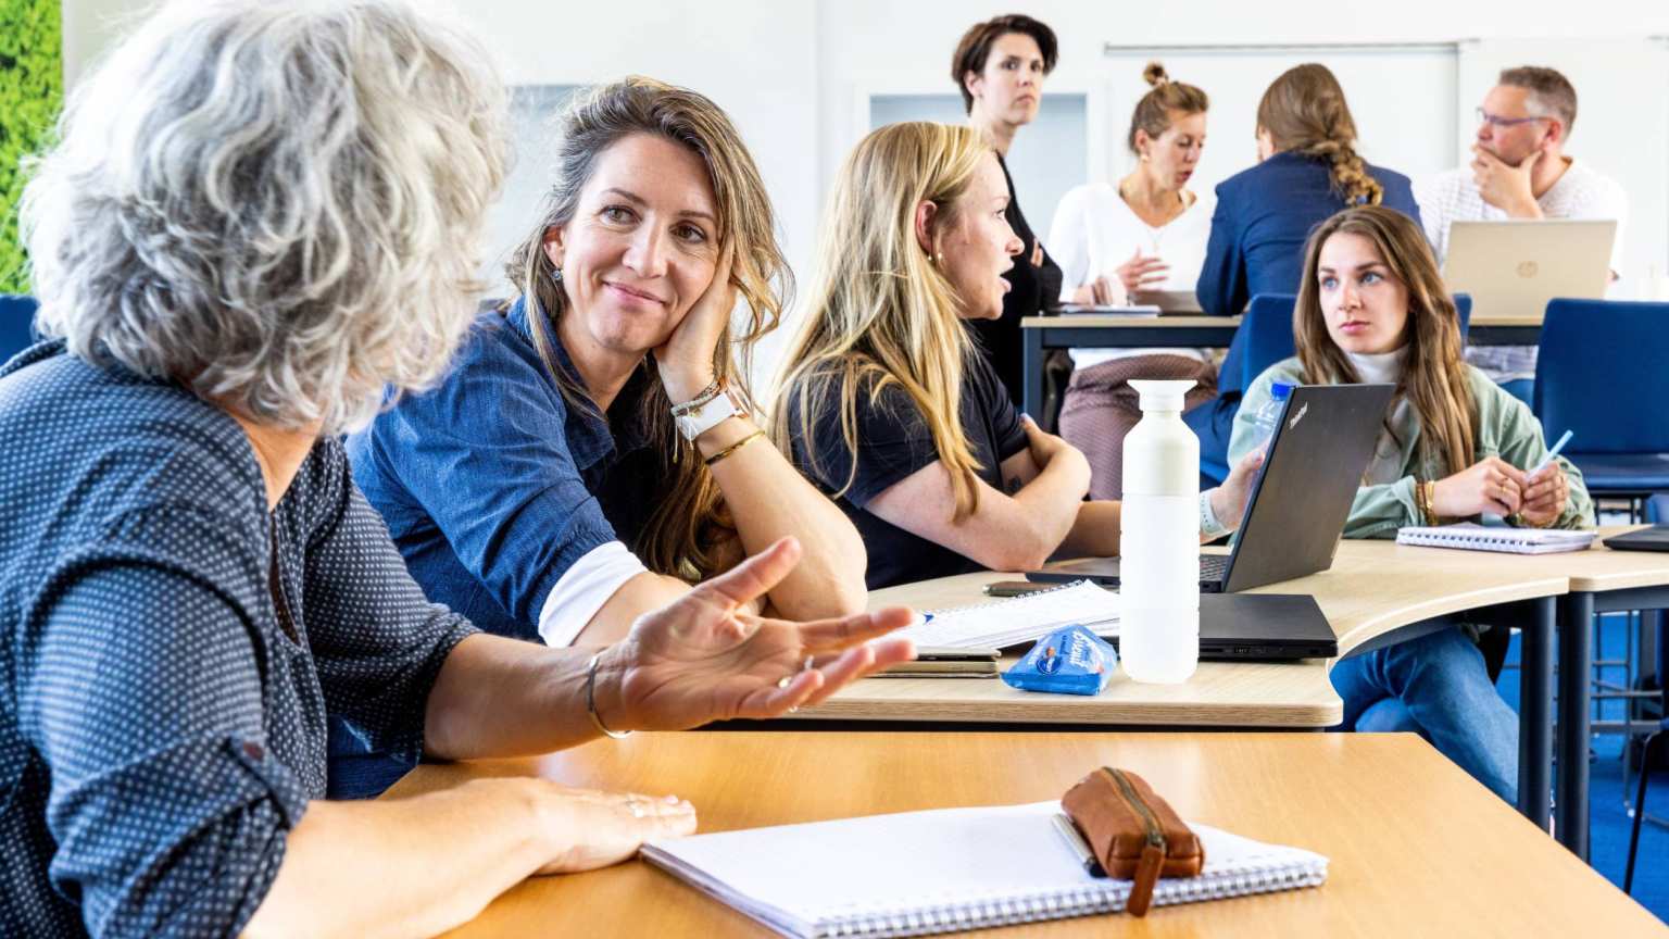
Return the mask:
M 1043 413 L 1043 356 L 1046 349 L 1150 349 L 1202 346 L 1225 349 L 1235 339 L 1238 316 L 1028 316 L 1020 321 L 1025 411 Z M 1534 346 L 1542 336 L 1540 316 L 1474 319 L 1465 341 L 1472 346 Z

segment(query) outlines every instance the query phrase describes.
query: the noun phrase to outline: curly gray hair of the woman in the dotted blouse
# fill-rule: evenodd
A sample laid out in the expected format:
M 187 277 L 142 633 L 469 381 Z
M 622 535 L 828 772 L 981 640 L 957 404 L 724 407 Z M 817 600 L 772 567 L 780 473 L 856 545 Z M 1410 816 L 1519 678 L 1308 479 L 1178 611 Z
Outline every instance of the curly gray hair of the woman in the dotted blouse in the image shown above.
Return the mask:
M 164 8 L 25 190 L 40 329 L 259 423 L 367 424 L 474 316 L 507 147 L 487 62 L 399 0 Z

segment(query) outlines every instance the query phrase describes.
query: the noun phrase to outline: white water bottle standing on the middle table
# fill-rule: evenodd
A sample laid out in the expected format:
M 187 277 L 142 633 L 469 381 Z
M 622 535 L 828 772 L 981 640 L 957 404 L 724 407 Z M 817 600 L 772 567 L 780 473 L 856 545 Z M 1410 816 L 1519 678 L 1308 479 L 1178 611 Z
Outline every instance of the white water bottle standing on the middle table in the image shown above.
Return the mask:
M 1182 423 L 1193 381 L 1132 381 L 1142 421 L 1125 436 L 1118 535 L 1118 658 L 1137 682 L 1187 682 L 1200 665 L 1200 438 Z

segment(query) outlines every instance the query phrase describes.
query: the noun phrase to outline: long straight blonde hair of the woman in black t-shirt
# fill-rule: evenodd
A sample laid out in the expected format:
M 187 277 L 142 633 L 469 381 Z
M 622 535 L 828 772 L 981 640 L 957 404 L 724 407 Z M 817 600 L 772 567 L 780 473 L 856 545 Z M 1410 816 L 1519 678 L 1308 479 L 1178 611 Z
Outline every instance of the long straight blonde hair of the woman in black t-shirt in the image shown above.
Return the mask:
M 841 438 L 855 456 L 841 493 L 858 471 L 858 396 L 876 408 L 896 388 L 921 413 L 950 471 L 953 518 L 978 508 L 981 466 L 960 418 L 965 363 L 978 353 L 956 314 L 955 289 L 916 241 L 915 219 L 926 200 L 938 207 L 933 232 L 953 222 L 990 154 L 968 127 L 893 124 L 865 137 L 834 182 L 811 304 L 784 353 L 769 428 L 783 453 L 794 453 L 799 439 L 813 471 L 823 475 L 814 428 L 819 414 L 838 409 Z

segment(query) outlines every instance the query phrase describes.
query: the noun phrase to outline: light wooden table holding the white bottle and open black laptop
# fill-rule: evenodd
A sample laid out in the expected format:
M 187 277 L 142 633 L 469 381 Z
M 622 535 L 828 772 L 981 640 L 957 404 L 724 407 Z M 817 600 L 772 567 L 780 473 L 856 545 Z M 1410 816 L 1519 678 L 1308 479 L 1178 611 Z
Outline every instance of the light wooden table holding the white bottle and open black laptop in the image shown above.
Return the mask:
M 1606 530 L 1609 536 L 1626 528 Z M 941 608 L 978 603 L 980 586 L 1013 573 L 975 573 L 871 593 L 871 607 Z M 1455 615 L 1522 603 L 1519 695 L 1519 809 L 1544 825 L 1551 814 L 1556 754 L 1554 638 L 1561 688 L 1557 752 L 1586 754 L 1594 610 L 1669 607 L 1669 555 L 1592 551 L 1492 555 L 1414 548 L 1392 541 L 1340 541 L 1330 570 L 1257 588 L 1310 593 L 1334 627 L 1342 655 L 1404 642 L 1452 625 Z M 1587 610 L 1584 618 L 1584 610 Z M 1001 667 L 1008 667 L 1005 658 Z M 1117 675 L 1097 697 L 1038 695 L 996 680 L 870 678 L 841 690 L 798 720 L 930 722 L 940 727 L 1335 727 L 1344 717 L 1327 678 L 1329 662 L 1202 662 L 1182 685 L 1140 685 Z M 846 723 L 843 727 L 851 727 Z M 1559 759 L 1559 840 L 1587 857 L 1586 759 Z

